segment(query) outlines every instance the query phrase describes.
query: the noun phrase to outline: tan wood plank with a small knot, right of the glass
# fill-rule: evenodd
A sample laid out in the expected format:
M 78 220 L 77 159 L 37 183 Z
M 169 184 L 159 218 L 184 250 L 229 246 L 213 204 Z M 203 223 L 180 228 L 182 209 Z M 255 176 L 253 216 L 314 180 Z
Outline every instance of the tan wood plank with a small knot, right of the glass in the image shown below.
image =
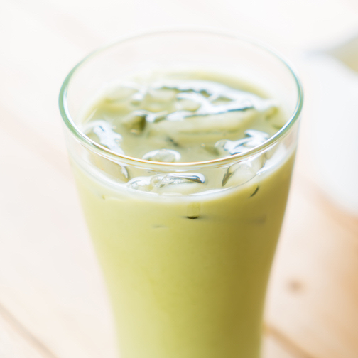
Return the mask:
M 318 188 L 296 175 L 267 319 L 314 357 L 357 357 L 357 233 L 357 219 L 338 214 Z

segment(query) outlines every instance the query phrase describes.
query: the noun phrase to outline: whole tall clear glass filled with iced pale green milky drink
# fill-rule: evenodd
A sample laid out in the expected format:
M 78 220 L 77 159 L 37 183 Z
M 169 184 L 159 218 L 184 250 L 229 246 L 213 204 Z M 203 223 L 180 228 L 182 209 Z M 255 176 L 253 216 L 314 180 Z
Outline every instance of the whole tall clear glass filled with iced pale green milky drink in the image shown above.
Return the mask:
M 237 38 L 155 33 L 87 58 L 60 107 L 120 357 L 259 358 L 301 107 L 289 67 Z

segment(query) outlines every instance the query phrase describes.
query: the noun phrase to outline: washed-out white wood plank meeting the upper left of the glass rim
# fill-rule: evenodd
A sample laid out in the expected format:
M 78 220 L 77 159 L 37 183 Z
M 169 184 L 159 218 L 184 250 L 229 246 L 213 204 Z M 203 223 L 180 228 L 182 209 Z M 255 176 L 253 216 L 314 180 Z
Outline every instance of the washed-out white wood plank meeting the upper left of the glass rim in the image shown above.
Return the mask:
M 65 153 L 58 93 L 67 73 L 87 50 L 48 28 L 15 1 L 2 1 L 0 20 L 0 42 L 6 49 L 0 56 L 0 107 L 10 109 Z M 1 122 L 10 120 L 1 115 Z

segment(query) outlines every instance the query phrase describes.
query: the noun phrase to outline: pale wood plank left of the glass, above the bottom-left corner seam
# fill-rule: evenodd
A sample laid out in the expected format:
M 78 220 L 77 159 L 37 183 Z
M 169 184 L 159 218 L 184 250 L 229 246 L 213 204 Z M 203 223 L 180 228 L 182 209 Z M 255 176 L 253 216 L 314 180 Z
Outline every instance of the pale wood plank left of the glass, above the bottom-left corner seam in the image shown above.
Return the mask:
M 50 147 L 44 155 L 18 132 L 1 131 L 0 151 L 11 156 L 0 156 L 0 166 L 11 175 L 0 188 L 0 302 L 58 357 L 114 357 L 107 296 L 74 184 L 55 155 L 50 161 Z

